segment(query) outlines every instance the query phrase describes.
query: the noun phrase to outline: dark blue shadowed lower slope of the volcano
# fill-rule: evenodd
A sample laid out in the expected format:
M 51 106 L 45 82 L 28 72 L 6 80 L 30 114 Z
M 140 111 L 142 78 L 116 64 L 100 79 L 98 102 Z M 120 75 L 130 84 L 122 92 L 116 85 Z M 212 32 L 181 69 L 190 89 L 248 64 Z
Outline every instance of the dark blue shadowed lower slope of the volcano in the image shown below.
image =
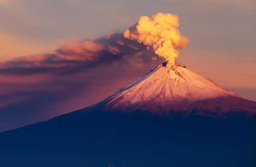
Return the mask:
M 245 166 L 255 122 L 150 113 L 72 112 L 0 133 L 0 166 Z

